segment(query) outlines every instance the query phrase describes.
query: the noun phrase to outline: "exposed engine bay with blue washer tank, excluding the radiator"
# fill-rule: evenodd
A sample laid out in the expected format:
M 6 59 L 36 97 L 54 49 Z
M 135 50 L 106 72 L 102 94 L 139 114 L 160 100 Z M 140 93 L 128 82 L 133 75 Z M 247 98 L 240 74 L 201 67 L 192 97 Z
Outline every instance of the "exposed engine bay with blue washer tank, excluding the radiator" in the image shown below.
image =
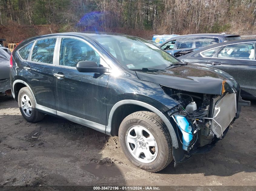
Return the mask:
M 166 86 L 161 86 L 163 91 L 176 100 L 180 105 L 168 112 L 168 115 L 176 122 L 176 129 L 178 131 L 178 138 L 183 145 L 185 151 L 192 148 L 202 147 L 211 144 L 216 135 L 211 129 L 211 117 L 214 113 L 214 106 L 218 100 L 221 99 L 219 95 L 200 94 L 194 92 L 186 92 Z M 178 116 L 184 116 L 191 131 L 186 132 L 179 124 Z M 175 128 L 175 127 L 174 127 Z M 185 132 L 185 133 L 184 133 Z M 184 146 L 184 140 L 191 137 L 190 144 Z

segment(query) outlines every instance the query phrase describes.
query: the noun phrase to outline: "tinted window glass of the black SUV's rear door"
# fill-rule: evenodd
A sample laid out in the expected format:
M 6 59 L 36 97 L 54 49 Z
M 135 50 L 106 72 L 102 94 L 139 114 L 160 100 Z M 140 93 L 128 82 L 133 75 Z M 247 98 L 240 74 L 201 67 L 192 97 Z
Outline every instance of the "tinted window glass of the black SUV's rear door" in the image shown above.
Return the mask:
M 32 51 L 31 61 L 52 64 L 56 38 L 38 40 Z

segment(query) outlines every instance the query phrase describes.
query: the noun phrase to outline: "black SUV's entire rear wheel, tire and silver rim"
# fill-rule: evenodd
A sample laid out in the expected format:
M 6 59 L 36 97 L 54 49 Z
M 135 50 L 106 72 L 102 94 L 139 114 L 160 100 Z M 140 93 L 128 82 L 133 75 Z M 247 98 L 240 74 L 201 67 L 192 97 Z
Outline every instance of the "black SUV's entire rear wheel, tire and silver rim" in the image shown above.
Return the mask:
M 35 110 L 35 99 L 28 87 L 21 88 L 18 94 L 18 104 L 22 116 L 31 123 L 41 121 L 45 114 Z

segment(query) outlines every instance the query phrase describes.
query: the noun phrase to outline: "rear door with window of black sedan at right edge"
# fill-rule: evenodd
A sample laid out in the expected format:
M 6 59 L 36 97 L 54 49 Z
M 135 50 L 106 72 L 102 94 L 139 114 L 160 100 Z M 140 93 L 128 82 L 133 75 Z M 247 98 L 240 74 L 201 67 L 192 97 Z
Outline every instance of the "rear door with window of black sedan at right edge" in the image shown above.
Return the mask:
M 256 96 L 255 42 L 222 46 L 207 62 L 209 67 L 227 72 L 238 81 L 241 94 Z

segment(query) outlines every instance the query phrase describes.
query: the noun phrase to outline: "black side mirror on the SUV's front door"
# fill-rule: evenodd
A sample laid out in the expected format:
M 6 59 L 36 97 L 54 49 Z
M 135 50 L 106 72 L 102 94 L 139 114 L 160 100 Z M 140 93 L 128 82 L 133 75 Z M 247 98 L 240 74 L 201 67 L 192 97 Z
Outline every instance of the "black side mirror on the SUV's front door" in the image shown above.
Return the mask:
M 93 73 L 105 73 L 108 72 L 108 68 L 99 67 L 96 62 L 93 61 L 80 61 L 76 65 L 78 72 L 93 72 Z

